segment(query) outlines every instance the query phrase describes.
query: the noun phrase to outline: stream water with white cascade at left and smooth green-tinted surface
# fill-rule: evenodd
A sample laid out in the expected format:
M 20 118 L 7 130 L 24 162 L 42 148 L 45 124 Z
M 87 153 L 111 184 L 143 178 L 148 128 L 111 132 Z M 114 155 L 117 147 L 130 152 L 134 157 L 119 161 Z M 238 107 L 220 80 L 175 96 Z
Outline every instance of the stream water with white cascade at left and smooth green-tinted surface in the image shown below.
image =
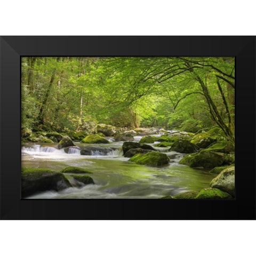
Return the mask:
M 134 139 L 139 141 L 140 138 L 135 136 Z M 209 187 L 211 180 L 216 176 L 205 170 L 179 164 L 184 154 L 167 152 L 167 148 L 155 147 L 171 158 L 171 163 L 164 167 L 129 162 L 129 158 L 123 157 L 123 142 L 108 139 L 111 143 L 107 145 L 76 143 L 81 149 L 91 146 L 108 148 L 103 151 L 91 150 L 91 155 L 81 155 L 78 148 L 69 148 L 65 153 L 64 149 L 56 149 L 56 144 L 50 143 L 22 145 L 22 167 L 47 168 L 54 171 L 61 171 L 67 166 L 82 167 L 92 172 L 90 176 L 95 183 L 58 192 L 45 191 L 28 198 L 159 198 Z M 154 143 L 149 145 L 154 147 Z M 68 174 L 65 175 L 71 179 Z

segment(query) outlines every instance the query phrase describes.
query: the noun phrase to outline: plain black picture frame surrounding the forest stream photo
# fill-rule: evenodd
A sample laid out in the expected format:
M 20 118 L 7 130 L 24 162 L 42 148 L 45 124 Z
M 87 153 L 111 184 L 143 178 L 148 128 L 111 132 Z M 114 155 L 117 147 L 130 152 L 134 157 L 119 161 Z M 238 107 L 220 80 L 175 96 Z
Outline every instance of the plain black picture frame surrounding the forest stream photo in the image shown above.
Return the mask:
M 1 219 L 255 219 L 255 36 L 1 36 Z M 21 56 L 234 56 L 234 200 L 21 199 Z

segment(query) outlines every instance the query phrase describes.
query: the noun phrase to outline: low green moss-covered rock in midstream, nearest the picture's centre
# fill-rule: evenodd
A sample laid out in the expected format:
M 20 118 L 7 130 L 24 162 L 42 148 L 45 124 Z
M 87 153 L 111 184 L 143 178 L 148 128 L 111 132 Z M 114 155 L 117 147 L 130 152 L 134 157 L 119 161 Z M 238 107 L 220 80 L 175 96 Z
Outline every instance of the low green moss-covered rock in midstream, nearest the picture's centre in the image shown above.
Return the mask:
M 170 162 L 170 158 L 166 154 L 153 151 L 146 154 L 134 155 L 129 161 L 149 166 L 163 166 Z

